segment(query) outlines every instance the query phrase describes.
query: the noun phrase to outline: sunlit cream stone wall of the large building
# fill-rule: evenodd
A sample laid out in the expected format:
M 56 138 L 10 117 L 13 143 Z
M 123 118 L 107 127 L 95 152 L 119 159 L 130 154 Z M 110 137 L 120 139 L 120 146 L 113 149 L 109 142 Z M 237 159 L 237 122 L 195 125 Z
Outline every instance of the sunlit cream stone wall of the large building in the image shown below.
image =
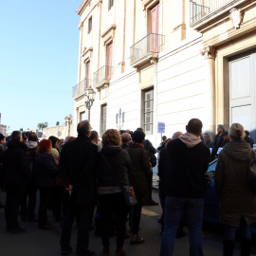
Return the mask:
M 154 145 L 160 141 L 158 121 L 166 123 L 168 137 L 177 130 L 185 132 L 185 125 L 192 118 L 201 119 L 204 131 L 213 134 L 218 123 L 229 127 L 227 60 L 256 45 L 255 1 L 231 1 L 226 10 L 215 11 L 215 16 L 192 26 L 190 0 L 116 0 L 110 11 L 106 0 L 84 0 L 82 3 L 87 3 L 87 7 L 78 10 L 83 24 L 80 56 L 84 47 L 92 46 L 93 50 L 81 57 L 78 82 L 85 76 L 84 60 L 90 59 L 93 78 L 93 74 L 105 65 L 106 45 L 113 42 L 114 75 L 103 87 L 95 87 L 96 100 L 90 112 L 95 130 L 101 129 L 102 104 L 107 105 L 107 129 L 142 127 L 142 94 L 148 88 L 154 88 L 154 128 L 153 134 L 147 137 Z M 149 10 L 157 3 L 159 33 L 165 36 L 165 45 L 156 59 L 149 59 L 135 68 L 130 64 L 130 47 L 148 34 Z M 229 10 L 233 7 L 245 13 L 239 29 L 233 27 L 229 18 Z M 84 27 L 90 15 L 93 15 L 93 29 L 91 35 L 87 35 Z M 106 97 L 102 97 L 103 94 Z M 116 123 L 119 108 L 125 112 L 122 126 Z M 82 111 L 87 115 L 83 98 L 74 98 L 77 122 Z

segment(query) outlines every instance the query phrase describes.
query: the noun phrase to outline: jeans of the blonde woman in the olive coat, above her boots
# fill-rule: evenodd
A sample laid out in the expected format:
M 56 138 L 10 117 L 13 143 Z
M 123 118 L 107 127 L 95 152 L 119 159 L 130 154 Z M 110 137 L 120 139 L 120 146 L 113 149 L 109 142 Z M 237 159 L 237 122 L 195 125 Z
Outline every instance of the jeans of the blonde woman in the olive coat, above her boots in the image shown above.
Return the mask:
M 235 241 L 235 233 L 236 233 L 236 227 L 233 226 L 229 226 L 229 225 L 225 225 L 225 235 L 224 235 L 224 240 L 227 241 Z M 244 240 L 251 240 L 251 231 L 250 231 L 250 227 L 247 226 L 247 221 L 245 219 L 245 217 L 243 216 L 241 221 L 240 221 L 240 225 L 239 225 L 239 229 L 241 232 L 241 238 Z

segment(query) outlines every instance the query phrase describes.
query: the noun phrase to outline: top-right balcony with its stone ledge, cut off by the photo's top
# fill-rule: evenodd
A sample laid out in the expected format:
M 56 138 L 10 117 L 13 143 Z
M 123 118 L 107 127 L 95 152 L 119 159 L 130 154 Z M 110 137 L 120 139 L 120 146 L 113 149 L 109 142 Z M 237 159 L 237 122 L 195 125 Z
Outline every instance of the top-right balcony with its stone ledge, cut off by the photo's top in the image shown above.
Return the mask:
M 191 26 L 210 18 L 217 18 L 246 0 L 190 0 L 191 2 Z

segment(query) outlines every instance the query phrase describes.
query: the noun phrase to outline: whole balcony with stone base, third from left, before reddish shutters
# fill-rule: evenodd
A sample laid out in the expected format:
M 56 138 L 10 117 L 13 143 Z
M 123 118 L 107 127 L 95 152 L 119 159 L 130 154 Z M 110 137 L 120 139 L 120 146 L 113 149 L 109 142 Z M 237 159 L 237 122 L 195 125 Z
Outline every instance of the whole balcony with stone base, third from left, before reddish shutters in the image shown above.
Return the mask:
M 130 48 L 130 64 L 138 67 L 153 59 L 157 59 L 158 53 L 164 49 L 165 36 L 150 33 Z

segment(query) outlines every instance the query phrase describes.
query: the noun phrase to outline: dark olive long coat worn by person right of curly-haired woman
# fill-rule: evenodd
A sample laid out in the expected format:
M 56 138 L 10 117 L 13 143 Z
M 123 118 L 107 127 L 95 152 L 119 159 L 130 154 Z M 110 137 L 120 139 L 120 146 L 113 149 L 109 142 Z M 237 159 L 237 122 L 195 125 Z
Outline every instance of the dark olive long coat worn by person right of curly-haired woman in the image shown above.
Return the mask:
M 137 145 L 130 144 L 125 149 L 132 161 L 132 171 L 130 182 L 134 187 L 137 203 L 140 206 L 149 205 L 149 186 L 147 175 L 151 174 L 151 164 L 149 154 Z

